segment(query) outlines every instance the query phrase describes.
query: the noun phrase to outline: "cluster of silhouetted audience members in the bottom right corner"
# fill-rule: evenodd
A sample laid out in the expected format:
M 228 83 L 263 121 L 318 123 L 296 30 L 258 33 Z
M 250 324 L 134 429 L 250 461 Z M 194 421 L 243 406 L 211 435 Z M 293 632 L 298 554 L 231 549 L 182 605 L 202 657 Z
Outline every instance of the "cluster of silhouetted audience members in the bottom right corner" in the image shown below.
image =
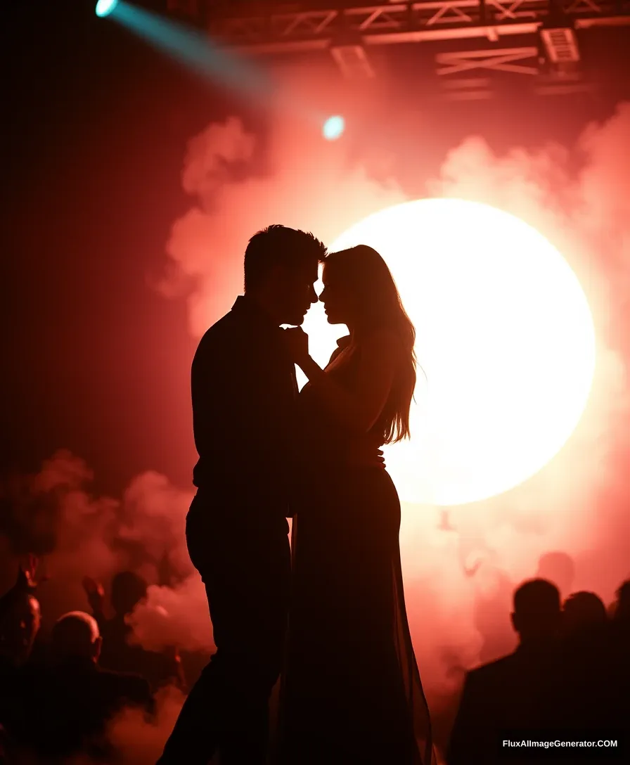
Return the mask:
M 573 568 L 567 559 L 544 556 L 538 570 L 555 568 L 568 586 Z M 625 671 L 622 667 L 628 645 L 615 648 L 612 624 L 596 594 L 574 593 L 561 608 L 555 584 L 532 579 L 515 591 L 511 620 L 519 638 L 515 652 L 466 676 L 450 735 L 449 765 L 503 762 L 505 737 L 621 734 L 627 728 L 627 659 Z M 531 754 L 518 761 L 539 758 Z M 573 762 L 570 757 L 561 761 Z

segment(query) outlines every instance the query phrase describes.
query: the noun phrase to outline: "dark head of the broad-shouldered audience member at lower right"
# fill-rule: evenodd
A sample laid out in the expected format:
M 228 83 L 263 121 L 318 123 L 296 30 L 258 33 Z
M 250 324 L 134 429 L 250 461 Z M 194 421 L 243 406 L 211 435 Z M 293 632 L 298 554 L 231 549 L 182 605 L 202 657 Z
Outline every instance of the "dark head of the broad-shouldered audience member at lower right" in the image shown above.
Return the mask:
M 560 631 L 560 593 L 545 579 L 524 582 L 514 594 L 512 625 L 521 645 L 553 640 Z

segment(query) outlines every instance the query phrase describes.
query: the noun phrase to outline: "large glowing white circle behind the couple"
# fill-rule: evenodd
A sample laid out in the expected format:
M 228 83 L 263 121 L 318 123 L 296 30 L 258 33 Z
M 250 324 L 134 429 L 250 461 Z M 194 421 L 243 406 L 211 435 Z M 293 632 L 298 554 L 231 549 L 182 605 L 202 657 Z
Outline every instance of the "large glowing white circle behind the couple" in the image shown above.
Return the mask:
M 427 374 L 411 440 L 385 451 L 401 499 L 464 504 L 536 474 L 579 422 L 595 370 L 593 318 L 560 252 L 524 221 L 454 199 L 381 210 L 330 250 L 356 244 L 388 263 Z M 347 334 L 320 303 L 304 329 L 322 365 Z

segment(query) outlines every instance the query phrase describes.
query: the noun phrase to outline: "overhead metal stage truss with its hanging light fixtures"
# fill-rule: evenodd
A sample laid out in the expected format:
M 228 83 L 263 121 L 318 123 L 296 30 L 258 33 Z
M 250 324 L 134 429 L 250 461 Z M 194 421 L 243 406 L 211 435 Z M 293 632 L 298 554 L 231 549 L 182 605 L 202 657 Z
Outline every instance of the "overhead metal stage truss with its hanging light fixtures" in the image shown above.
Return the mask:
M 560 25 L 548 23 L 550 0 L 356 2 L 356 7 L 335 0 L 330 5 L 326 0 L 300 5 L 169 0 L 169 5 L 181 5 L 181 10 L 185 6 L 189 12 L 194 5 L 197 20 L 209 34 L 237 52 L 264 56 L 329 51 L 344 77 L 359 80 L 375 76 L 369 60 L 372 46 L 476 38 L 483 41 L 479 50 L 440 53 L 435 60 L 447 98 L 479 99 L 492 95 L 489 70 L 534 76 L 541 75 L 545 62 L 557 71 L 547 67 L 542 74 L 550 81 L 537 85 L 537 92 L 584 90 L 580 77 L 567 67 L 580 57 L 575 30 L 630 25 L 630 0 L 569 2 L 563 8 L 567 23 Z M 514 35 L 531 35 L 531 46 L 506 47 Z M 560 70 L 563 81 L 557 83 L 554 74 Z M 481 77 L 462 78 L 461 73 Z

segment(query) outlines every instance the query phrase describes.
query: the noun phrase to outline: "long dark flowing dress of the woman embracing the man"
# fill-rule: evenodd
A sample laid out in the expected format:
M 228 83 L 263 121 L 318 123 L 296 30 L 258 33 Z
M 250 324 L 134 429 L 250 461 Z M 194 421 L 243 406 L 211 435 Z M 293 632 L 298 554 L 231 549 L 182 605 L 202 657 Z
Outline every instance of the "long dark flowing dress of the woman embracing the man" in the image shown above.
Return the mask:
M 351 393 L 361 352 L 343 338 L 326 367 Z M 310 385 L 300 393 L 300 418 L 309 477 L 291 536 L 281 763 L 431 765 L 429 711 L 404 604 L 398 493 L 381 467 L 344 461 L 349 431 Z M 379 432 L 377 422 L 366 438 L 379 444 Z

